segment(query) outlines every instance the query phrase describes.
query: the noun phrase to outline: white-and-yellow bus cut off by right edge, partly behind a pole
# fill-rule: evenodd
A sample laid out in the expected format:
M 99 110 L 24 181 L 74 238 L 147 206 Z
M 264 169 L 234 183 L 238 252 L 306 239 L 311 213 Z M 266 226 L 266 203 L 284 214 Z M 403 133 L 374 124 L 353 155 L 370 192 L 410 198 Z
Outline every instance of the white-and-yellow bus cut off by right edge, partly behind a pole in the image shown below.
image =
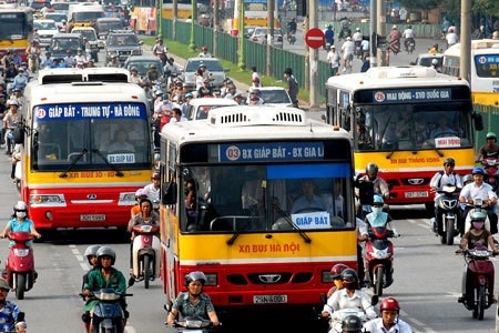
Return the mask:
M 442 72 L 459 77 L 460 44 L 444 52 Z M 473 103 L 499 105 L 499 40 L 471 40 L 471 95 Z

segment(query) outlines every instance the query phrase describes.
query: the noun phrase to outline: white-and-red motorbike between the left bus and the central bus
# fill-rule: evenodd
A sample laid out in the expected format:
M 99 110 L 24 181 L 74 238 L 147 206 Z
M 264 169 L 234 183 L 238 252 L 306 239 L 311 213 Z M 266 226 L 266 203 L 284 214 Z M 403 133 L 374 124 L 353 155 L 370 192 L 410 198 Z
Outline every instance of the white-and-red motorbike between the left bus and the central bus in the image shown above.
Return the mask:
M 159 225 L 139 224 L 133 226 L 135 238 L 132 246 L 132 276 L 129 285 L 135 281 L 144 281 L 145 289 L 149 282 L 160 276 L 160 232 Z

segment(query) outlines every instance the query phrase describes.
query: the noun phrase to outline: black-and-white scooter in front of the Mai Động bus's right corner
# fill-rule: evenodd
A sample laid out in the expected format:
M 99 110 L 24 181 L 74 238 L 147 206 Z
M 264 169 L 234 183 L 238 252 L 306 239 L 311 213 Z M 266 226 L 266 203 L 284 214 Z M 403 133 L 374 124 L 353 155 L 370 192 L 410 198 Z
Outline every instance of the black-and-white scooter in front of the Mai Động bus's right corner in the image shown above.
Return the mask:
M 440 243 L 452 245 L 454 238 L 459 234 L 458 219 L 460 214 L 459 205 L 460 189 L 452 185 L 444 185 L 437 190 L 438 194 L 436 204 L 438 206 L 439 216 L 431 219 L 435 235 L 440 236 Z

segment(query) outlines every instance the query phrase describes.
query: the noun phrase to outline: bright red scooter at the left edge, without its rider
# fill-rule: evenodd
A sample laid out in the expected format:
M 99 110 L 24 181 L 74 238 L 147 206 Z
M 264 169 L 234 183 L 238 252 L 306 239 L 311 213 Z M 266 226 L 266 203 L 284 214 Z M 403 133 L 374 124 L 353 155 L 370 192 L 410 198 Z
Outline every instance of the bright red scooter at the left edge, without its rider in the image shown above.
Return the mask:
M 2 278 L 16 291 L 16 299 L 24 300 L 24 292 L 33 287 L 38 273 L 34 270 L 33 249 L 27 243 L 34 240 L 29 232 L 17 231 L 7 235 L 14 244 L 9 249 L 9 256 Z

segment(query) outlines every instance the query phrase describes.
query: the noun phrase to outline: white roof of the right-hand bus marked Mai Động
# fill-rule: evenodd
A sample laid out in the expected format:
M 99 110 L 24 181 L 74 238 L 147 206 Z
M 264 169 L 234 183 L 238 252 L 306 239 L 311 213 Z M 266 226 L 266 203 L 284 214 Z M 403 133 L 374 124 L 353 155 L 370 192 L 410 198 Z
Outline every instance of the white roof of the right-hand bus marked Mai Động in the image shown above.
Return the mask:
M 348 90 L 400 88 L 427 85 L 469 85 L 466 80 L 438 73 L 431 68 L 413 67 L 375 67 L 365 73 L 335 75 L 327 79 L 326 87 Z

